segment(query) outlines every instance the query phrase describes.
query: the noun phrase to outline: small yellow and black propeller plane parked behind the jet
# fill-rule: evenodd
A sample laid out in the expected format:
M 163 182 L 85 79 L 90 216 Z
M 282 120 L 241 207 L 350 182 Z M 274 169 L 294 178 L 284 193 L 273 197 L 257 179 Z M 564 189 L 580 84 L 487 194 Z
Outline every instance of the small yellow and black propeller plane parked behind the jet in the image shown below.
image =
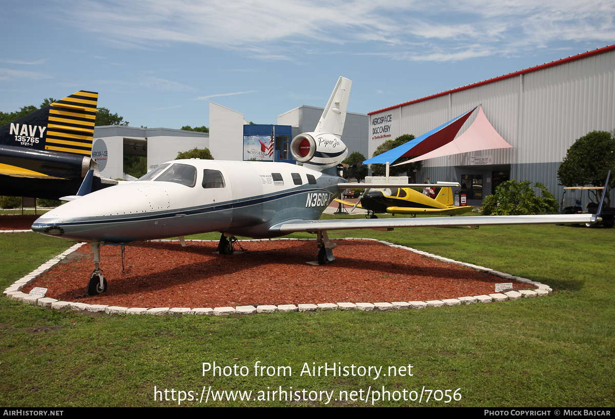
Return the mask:
M 459 185 L 459 184 L 458 184 Z M 423 187 L 437 187 L 437 184 L 421 185 Z M 355 204 L 344 200 L 336 199 L 344 205 L 352 206 Z M 421 194 L 414 189 L 401 187 L 388 187 L 385 189 L 370 190 L 362 195 L 357 208 L 362 208 L 375 214 L 438 214 L 438 215 L 457 215 L 469 213 L 474 210 L 474 206 L 454 206 L 453 189 L 450 186 L 442 187 L 438 196 L 435 198 Z M 378 218 L 375 215 L 372 218 Z

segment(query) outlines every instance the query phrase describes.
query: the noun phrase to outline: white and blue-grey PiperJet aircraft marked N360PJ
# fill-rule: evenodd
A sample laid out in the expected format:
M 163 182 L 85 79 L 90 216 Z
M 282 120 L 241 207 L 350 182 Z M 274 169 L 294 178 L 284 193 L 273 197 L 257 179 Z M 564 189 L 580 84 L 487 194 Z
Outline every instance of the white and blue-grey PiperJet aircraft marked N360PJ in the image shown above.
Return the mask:
M 107 287 L 100 271 L 100 246 L 130 241 L 220 232 L 220 253 L 235 235 L 280 237 L 317 233 L 318 261 L 335 260 L 327 230 L 383 229 L 439 225 L 544 224 L 595 222 L 597 215 L 436 217 L 405 219 L 319 220 L 341 190 L 354 188 L 335 173 L 348 154 L 341 141 L 351 80 L 339 77 L 314 132 L 293 138 L 290 148 L 303 166 L 270 162 L 175 160 L 134 182 L 76 198 L 34 222 L 35 232 L 89 241 L 95 269 L 88 294 Z M 87 178 L 86 178 L 87 180 Z M 85 184 L 85 181 L 84 181 Z M 405 185 L 373 185 L 373 187 Z M 80 190 L 79 195 L 84 193 Z M 598 214 L 600 211 L 598 211 Z

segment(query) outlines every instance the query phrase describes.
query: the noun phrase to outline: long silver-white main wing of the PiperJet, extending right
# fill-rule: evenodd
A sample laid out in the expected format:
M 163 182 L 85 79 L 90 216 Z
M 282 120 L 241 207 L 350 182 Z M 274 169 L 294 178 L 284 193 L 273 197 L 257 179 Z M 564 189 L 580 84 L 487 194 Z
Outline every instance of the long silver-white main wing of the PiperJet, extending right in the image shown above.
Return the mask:
M 398 219 L 352 219 L 285 221 L 272 225 L 270 232 L 295 233 L 318 230 L 390 229 L 402 227 L 448 227 L 461 225 L 507 224 L 583 224 L 592 222 L 592 214 L 517 215 L 517 216 L 470 216 L 470 217 L 423 217 Z

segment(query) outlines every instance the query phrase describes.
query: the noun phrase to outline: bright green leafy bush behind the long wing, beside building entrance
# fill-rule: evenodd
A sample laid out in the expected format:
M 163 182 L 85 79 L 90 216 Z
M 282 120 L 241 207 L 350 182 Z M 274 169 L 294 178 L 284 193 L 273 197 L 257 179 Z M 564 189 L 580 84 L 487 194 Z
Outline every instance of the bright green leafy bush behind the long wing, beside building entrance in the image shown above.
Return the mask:
M 515 179 L 502 182 L 496 188 L 496 193 L 488 195 L 483 200 L 481 213 L 483 215 L 531 215 L 557 213 L 557 200 L 541 182 L 534 187 L 541 190 L 541 197 L 530 181 L 517 182 Z

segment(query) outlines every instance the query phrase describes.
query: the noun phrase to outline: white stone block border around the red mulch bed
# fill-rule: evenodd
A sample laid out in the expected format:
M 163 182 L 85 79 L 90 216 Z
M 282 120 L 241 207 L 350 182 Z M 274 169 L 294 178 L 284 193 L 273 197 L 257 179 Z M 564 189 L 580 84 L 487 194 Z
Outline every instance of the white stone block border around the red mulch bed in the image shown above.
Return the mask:
M 30 230 L 28 230 L 30 231 Z M 316 240 L 314 238 L 276 238 L 272 240 L 298 240 L 298 241 L 309 241 Z M 149 314 L 154 316 L 162 316 L 162 315 L 208 315 L 208 316 L 226 316 L 231 314 L 239 314 L 239 315 L 247 315 L 252 313 L 274 313 L 276 311 L 281 311 L 283 313 L 288 313 L 291 311 L 317 311 L 317 310 L 360 310 L 360 311 L 388 311 L 388 310 L 400 310 L 402 308 L 426 308 L 426 307 L 445 307 L 450 305 L 462 305 L 462 304 L 473 304 L 473 303 L 490 303 L 490 302 L 499 302 L 506 300 L 518 300 L 523 297 L 532 298 L 532 297 L 542 297 L 547 296 L 553 290 L 545 284 L 541 284 L 536 281 L 530 281 L 526 278 L 519 278 L 518 276 L 512 276 L 508 273 L 494 271 L 490 268 L 485 268 L 482 266 L 466 264 L 464 262 L 459 262 L 458 260 L 447 259 L 446 257 L 437 256 L 435 254 L 422 252 L 413 248 L 408 248 L 406 246 L 394 245 L 387 241 L 376 240 L 375 238 L 332 238 L 330 240 L 370 240 L 376 241 L 378 243 L 382 243 L 383 245 L 391 246 L 392 248 L 400 248 L 409 250 L 416 254 L 421 254 L 426 257 L 431 257 L 431 259 L 440 260 L 440 262 L 446 262 L 449 264 L 461 265 L 464 267 L 472 268 L 474 270 L 478 270 L 485 273 L 491 273 L 491 275 L 496 275 L 501 278 L 504 278 L 509 281 L 517 281 L 519 283 L 531 283 L 535 286 L 538 286 L 536 290 L 522 290 L 520 292 L 517 291 L 509 291 L 504 292 L 504 294 L 489 294 L 488 296 L 468 296 L 468 297 L 457 297 L 456 299 L 443 299 L 443 300 L 430 300 L 430 301 L 395 301 L 395 302 L 382 302 L 382 303 L 300 303 L 300 304 L 282 304 L 278 305 L 259 305 L 258 307 L 254 307 L 253 305 L 244 305 L 239 307 L 215 307 L 215 308 L 189 308 L 189 307 L 157 307 L 157 308 L 141 308 L 141 307 L 109 307 L 108 305 L 101 304 L 85 304 L 85 303 L 73 303 L 68 301 L 58 301 L 52 298 L 39 298 L 30 296 L 30 294 L 24 294 L 21 290 L 27 284 L 30 284 L 32 281 L 36 280 L 40 275 L 47 272 L 50 268 L 54 267 L 54 265 L 58 264 L 60 260 L 69 256 L 69 254 L 77 251 L 82 245 L 85 243 L 78 243 L 77 245 L 72 246 L 68 250 L 60 253 L 58 256 L 49 260 L 45 264 L 42 264 L 38 269 L 33 270 L 33 272 L 28 273 L 28 275 L 23 278 L 15 281 L 14 284 L 9 286 L 9 288 L 5 289 L 3 294 L 7 297 L 10 297 L 14 300 L 22 300 L 23 302 L 40 305 L 41 307 L 54 308 L 56 310 L 76 310 L 76 311 L 89 311 L 91 313 L 106 313 L 106 314 L 124 314 L 124 315 L 138 315 L 138 314 Z M 157 241 L 177 241 L 177 240 L 157 240 Z M 192 240 L 192 241 L 217 241 L 217 240 Z M 261 239 L 261 240 L 242 240 L 242 241 L 270 241 L 269 239 Z

